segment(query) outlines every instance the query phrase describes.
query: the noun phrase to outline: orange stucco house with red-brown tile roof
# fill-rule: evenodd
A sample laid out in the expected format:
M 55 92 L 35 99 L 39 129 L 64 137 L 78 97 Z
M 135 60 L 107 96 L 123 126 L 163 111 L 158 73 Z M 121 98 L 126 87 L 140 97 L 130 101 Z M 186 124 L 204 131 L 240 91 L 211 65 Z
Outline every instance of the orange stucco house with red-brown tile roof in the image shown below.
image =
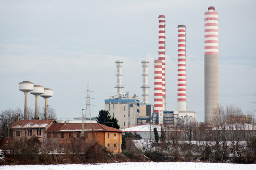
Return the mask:
M 55 138 L 58 149 L 68 148 L 77 139 L 84 139 L 87 143 L 98 142 L 114 153 L 122 152 L 122 132 L 119 129 L 99 123 L 56 123 L 48 128 L 48 139 Z M 82 137 L 84 136 L 84 137 Z

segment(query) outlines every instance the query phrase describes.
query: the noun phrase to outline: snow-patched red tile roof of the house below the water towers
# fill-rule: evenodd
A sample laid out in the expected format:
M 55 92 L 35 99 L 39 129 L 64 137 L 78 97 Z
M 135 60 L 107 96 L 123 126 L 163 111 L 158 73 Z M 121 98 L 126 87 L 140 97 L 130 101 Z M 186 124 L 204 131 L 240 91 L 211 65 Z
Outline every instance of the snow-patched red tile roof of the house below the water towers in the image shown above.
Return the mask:
M 34 120 L 19 120 L 15 122 L 10 128 L 20 129 L 20 128 L 46 128 L 52 122 L 56 122 L 55 119 L 48 119 L 48 124 L 46 119 L 34 119 Z M 57 123 L 57 122 L 56 122 Z

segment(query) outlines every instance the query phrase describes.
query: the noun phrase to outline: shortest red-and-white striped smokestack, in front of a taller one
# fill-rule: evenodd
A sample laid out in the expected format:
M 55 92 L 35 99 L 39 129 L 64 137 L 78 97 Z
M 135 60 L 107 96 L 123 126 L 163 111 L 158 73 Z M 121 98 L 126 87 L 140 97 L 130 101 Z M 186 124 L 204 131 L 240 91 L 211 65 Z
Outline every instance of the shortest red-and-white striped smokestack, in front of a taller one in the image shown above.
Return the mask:
M 155 60 L 154 67 L 154 113 L 163 110 L 162 60 Z

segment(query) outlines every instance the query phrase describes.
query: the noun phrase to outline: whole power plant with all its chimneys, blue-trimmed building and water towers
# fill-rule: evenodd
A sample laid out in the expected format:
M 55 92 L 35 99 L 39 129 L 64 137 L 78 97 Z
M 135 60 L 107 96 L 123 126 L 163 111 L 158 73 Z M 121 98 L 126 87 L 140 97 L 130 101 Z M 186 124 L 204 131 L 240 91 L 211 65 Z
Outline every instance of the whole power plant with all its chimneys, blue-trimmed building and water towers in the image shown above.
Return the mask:
M 177 70 L 177 111 L 166 108 L 166 17 L 158 16 L 158 58 L 154 60 L 154 103 L 149 103 L 149 61 L 142 60 L 142 102 L 136 94 L 122 93 L 122 60 L 116 60 L 116 93 L 105 99 L 105 110 L 118 120 L 121 128 L 142 123 L 176 124 L 196 121 L 195 111 L 187 110 L 186 84 L 186 26 L 178 25 L 178 70 Z M 206 124 L 210 124 L 214 111 L 219 106 L 218 72 L 218 12 L 208 7 L 204 13 L 204 114 Z M 167 75 L 168 76 L 168 75 Z M 168 85 L 168 83 L 167 83 Z M 44 117 L 48 118 L 48 98 L 53 90 L 32 82 L 19 83 L 19 90 L 25 94 L 24 118 L 28 119 L 28 93 L 35 95 L 35 119 L 38 115 L 38 96 L 45 99 Z M 152 96 L 152 95 L 151 95 Z

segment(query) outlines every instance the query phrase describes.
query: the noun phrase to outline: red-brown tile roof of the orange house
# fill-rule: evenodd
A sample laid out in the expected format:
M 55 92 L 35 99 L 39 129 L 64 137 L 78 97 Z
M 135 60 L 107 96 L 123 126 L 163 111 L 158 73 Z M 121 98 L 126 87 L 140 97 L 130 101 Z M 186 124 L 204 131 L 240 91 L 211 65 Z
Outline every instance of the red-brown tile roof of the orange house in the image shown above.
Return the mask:
M 119 129 L 99 123 L 84 123 L 84 131 L 123 132 Z M 48 132 L 82 131 L 82 123 L 56 123 L 48 128 Z

